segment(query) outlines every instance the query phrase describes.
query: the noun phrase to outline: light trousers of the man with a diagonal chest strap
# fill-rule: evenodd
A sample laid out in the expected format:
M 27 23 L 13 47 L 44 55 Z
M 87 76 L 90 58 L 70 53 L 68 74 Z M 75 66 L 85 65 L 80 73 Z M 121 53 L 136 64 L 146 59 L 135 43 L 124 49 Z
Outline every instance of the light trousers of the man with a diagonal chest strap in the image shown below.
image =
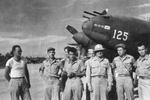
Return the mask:
M 133 81 L 131 77 L 116 77 L 116 89 L 118 100 L 125 100 L 124 92 L 128 100 L 134 100 Z

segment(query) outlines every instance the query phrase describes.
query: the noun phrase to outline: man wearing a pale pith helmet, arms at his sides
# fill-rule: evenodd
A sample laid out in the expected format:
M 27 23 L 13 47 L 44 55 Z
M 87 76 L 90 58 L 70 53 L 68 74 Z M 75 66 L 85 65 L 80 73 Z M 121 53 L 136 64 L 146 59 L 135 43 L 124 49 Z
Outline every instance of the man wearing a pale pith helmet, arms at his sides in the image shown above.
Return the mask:
M 97 44 L 94 48 L 95 57 L 87 63 L 87 84 L 91 100 L 107 100 L 111 90 L 112 73 L 109 60 L 104 57 L 105 48 Z

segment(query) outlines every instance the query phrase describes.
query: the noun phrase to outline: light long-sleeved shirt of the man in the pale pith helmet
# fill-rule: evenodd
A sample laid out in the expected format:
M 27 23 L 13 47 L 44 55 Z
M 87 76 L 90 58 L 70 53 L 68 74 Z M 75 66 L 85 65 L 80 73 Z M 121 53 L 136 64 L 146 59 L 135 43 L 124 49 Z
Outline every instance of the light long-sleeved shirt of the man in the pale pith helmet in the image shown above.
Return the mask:
M 86 65 L 87 65 L 86 75 L 88 85 L 91 84 L 91 77 L 99 75 L 108 77 L 109 85 L 112 84 L 112 72 L 108 59 L 106 58 L 100 59 L 98 57 L 94 57 L 89 59 L 86 62 Z

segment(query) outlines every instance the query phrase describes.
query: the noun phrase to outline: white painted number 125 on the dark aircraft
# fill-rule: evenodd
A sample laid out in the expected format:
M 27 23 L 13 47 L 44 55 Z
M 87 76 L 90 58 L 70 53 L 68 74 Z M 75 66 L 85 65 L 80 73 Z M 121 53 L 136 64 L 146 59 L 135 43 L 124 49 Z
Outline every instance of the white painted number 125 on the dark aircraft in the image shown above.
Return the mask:
M 129 35 L 128 32 L 122 32 L 122 31 L 114 30 L 113 38 L 126 41 L 128 39 L 128 35 Z

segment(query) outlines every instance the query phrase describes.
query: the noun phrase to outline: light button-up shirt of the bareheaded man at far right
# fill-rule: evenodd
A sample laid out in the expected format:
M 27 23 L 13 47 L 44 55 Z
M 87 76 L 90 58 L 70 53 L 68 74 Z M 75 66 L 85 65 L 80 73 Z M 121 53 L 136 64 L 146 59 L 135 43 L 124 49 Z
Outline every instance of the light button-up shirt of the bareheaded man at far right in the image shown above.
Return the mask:
M 144 57 L 139 57 L 136 61 L 136 73 L 138 76 L 150 77 L 150 56 L 146 54 Z

